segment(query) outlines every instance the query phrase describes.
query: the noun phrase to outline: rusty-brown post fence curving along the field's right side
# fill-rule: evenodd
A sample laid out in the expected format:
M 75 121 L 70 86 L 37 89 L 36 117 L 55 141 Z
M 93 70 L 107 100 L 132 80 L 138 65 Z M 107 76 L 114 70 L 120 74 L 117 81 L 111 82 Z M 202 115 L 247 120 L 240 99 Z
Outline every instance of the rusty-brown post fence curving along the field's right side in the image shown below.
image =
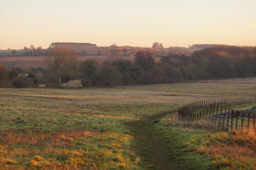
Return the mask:
M 250 102 L 256 102 L 256 96 L 198 101 L 180 109 L 178 119 L 186 122 L 205 120 L 216 124 L 222 131 L 255 130 L 256 107 L 253 111 L 230 110 L 236 105 Z

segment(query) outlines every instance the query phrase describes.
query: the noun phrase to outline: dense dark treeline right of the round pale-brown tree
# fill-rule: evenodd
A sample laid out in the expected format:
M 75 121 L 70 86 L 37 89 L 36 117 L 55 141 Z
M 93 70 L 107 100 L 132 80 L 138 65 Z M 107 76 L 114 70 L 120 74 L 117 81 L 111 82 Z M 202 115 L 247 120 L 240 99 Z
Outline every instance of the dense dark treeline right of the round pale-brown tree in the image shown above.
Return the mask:
M 184 80 L 210 80 L 256 76 L 256 48 L 218 46 L 192 54 L 170 54 L 160 61 L 148 51 L 133 60 L 101 63 L 83 61 L 80 79 L 85 86 L 142 85 Z

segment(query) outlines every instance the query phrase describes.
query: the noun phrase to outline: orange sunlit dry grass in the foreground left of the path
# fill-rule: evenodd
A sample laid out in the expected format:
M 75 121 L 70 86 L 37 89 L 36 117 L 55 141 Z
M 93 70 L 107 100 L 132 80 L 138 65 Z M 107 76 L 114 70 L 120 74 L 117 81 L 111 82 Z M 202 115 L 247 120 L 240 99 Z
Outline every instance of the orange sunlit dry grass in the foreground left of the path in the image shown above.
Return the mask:
M 132 140 L 122 133 L 1 132 L 0 168 L 135 168 Z

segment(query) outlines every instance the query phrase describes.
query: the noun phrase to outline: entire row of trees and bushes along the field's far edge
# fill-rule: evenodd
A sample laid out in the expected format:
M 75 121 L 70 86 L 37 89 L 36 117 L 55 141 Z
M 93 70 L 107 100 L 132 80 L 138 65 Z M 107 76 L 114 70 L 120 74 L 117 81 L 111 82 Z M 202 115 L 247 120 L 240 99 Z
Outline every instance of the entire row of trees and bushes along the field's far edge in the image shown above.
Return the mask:
M 76 54 L 70 50 L 57 49 L 57 53 L 60 51 L 61 55 L 56 51 L 49 53 L 51 56 L 48 56 L 48 61 L 52 66 L 44 71 L 44 80 L 41 79 L 39 82 L 55 84 L 58 87 L 59 82 L 81 80 L 84 87 L 112 87 L 256 76 L 256 48 L 252 47 L 218 46 L 196 51 L 190 57 L 170 54 L 160 61 L 149 51 L 137 51 L 134 58 L 130 59 L 89 58 L 79 61 L 79 58 L 73 57 L 72 65 L 69 56 Z M 66 54 L 65 51 L 70 55 L 63 55 Z M 59 66 L 68 66 L 69 69 Z M 38 71 L 43 72 L 41 69 Z M 20 70 L 17 72 L 20 73 Z M 37 69 L 33 69 L 32 73 L 35 72 Z M 0 86 L 14 85 L 16 78 L 11 76 L 11 73 L 14 74 L 14 70 L 0 67 Z M 33 77 L 33 81 L 38 80 Z

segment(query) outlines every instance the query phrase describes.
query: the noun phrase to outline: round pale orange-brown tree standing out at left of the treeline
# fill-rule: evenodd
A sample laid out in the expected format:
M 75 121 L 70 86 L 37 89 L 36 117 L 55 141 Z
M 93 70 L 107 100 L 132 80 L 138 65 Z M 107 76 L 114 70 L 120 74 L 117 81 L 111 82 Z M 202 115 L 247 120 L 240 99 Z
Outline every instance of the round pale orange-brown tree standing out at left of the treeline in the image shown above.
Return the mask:
M 78 72 L 80 62 L 75 51 L 69 48 L 51 48 L 45 62 L 54 77 L 59 78 L 59 87 L 62 80 L 72 79 Z

